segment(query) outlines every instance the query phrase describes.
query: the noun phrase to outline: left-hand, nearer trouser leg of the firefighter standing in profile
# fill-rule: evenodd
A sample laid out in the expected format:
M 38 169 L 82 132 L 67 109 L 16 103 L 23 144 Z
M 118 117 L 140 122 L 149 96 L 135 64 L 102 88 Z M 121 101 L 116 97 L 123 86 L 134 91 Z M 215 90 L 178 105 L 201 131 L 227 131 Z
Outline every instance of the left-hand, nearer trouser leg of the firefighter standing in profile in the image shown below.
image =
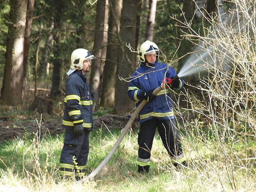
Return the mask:
M 66 129 L 64 144 L 60 155 L 60 175 L 74 175 L 84 138 L 85 133 L 82 136 L 76 136 L 73 129 Z

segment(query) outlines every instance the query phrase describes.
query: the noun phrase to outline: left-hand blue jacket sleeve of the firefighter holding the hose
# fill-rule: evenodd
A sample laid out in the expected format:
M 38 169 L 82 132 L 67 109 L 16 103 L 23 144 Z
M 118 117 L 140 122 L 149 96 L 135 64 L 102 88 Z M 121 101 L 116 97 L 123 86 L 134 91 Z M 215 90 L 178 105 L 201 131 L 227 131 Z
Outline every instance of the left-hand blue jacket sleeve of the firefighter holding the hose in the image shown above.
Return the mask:
M 139 98 L 138 95 L 139 95 L 140 92 L 143 92 L 143 91 L 140 89 L 138 78 L 135 78 L 136 75 L 137 75 L 136 72 L 134 72 L 132 74 L 127 94 L 128 94 L 128 96 L 130 97 L 131 100 L 141 101 L 142 99 Z

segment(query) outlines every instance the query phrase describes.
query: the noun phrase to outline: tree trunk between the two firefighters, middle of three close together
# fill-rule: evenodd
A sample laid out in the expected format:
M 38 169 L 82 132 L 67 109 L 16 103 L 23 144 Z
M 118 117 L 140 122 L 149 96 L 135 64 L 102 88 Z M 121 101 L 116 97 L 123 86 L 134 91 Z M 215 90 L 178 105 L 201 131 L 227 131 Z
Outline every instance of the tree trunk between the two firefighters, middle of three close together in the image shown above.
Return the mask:
M 104 108 L 115 106 L 116 68 L 118 62 L 119 29 L 122 1 L 109 0 L 108 46 L 104 66 L 100 105 Z

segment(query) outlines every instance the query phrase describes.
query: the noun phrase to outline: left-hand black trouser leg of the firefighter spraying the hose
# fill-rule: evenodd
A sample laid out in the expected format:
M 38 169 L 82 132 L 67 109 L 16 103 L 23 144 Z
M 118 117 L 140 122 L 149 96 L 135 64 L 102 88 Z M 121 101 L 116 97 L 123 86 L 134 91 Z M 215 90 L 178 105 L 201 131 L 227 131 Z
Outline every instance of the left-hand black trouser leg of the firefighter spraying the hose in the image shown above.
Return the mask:
M 140 132 L 138 135 L 138 172 L 149 171 L 150 155 L 153 139 L 156 131 L 156 119 L 140 123 Z

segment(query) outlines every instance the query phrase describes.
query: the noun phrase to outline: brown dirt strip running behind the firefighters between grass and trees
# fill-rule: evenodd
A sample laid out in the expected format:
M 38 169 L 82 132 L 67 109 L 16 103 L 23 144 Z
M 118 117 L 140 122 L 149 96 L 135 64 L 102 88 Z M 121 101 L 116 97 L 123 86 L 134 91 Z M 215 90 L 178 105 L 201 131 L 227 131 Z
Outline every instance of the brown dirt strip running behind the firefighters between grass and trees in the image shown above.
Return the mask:
M 101 116 L 94 119 L 94 129 L 124 129 L 124 126 L 128 122 L 131 115 L 117 116 L 117 115 L 107 115 Z M 46 131 L 50 132 L 51 135 L 56 135 L 64 132 L 65 130 L 61 126 L 62 119 L 45 121 L 40 124 L 41 133 Z M 138 127 L 138 119 L 132 127 Z M 107 127 L 107 128 L 106 128 Z M 12 139 L 12 138 L 22 138 L 26 134 L 36 133 L 39 130 L 39 126 L 35 121 L 31 123 L 19 123 L 11 121 L 1 121 L 0 122 L 0 141 Z

